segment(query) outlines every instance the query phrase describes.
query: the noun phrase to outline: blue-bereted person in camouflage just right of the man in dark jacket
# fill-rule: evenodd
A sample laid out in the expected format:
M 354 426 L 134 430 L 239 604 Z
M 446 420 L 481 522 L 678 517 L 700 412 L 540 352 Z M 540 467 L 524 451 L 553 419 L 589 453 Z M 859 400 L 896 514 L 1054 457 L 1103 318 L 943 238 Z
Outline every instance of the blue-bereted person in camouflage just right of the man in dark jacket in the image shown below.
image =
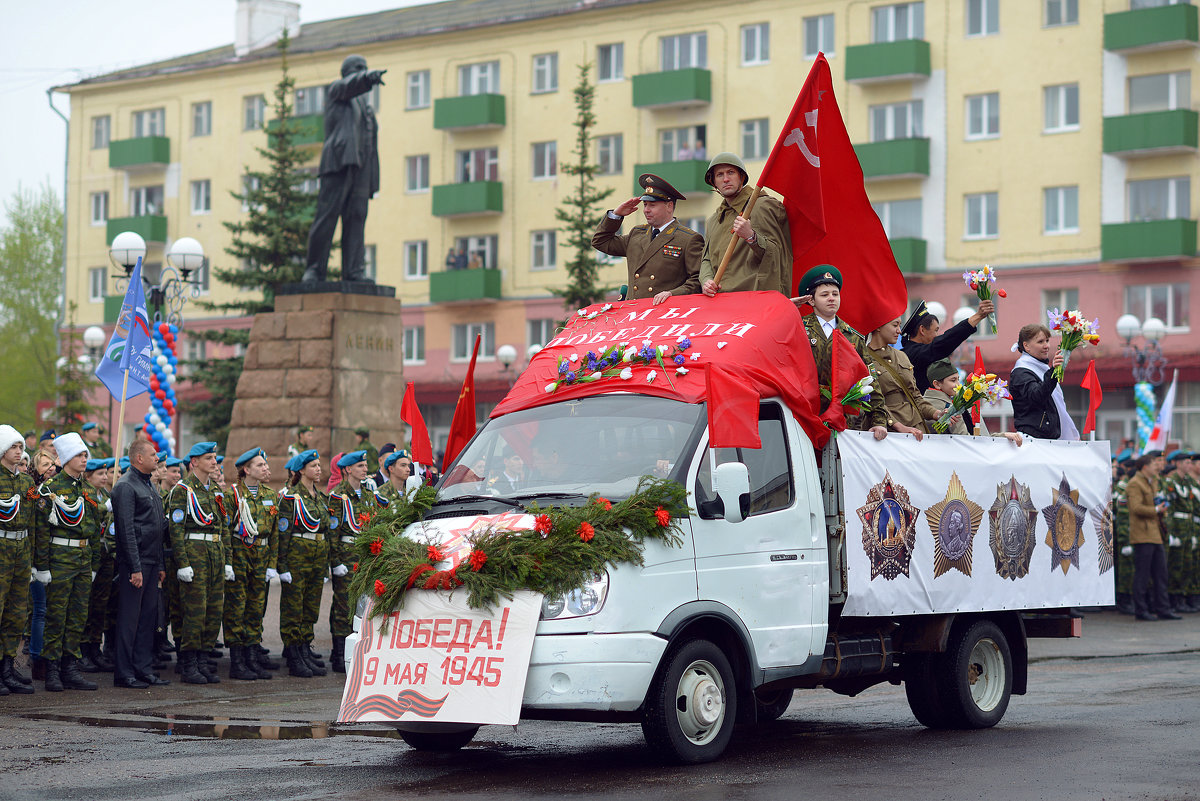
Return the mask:
M 221 679 L 203 658 L 217 642 L 229 564 L 226 506 L 214 482 L 216 442 L 198 442 L 188 452 L 192 469 L 167 495 L 170 544 L 179 578 L 179 675 L 190 685 Z

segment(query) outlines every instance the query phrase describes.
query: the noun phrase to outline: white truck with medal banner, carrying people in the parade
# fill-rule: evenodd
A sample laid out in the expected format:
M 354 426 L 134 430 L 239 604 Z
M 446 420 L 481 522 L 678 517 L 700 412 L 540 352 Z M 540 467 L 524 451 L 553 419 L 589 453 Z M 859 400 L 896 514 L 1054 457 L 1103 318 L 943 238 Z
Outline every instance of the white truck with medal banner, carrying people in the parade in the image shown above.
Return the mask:
M 446 482 L 414 526 L 437 538 L 529 501 L 617 500 L 642 475 L 691 494 L 678 547 L 648 542 L 642 566 L 544 598 L 524 719 L 641 723 L 666 759 L 701 763 L 796 689 L 890 682 L 928 727 L 991 727 L 1026 692 L 1027 639 L 1079 637 L 1069 608 L 1112 602 L 1108 444 L 845 432 L 818 451 L 766 397 L 760 447 L 710 448 L 706 403 L 604 384 L 490 420 L 457 463 L 523 450 L 520 488 Z M 395 723 L 420 749 L 479 728 Z

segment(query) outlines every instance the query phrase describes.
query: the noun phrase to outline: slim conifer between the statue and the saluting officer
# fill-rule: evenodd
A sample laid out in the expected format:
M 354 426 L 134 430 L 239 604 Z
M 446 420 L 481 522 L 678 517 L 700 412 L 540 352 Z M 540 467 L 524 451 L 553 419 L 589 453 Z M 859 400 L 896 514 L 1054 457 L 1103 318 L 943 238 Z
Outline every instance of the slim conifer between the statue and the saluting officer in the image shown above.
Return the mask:
M 589 73 L 592 65 L 580 66 L 580 83 L 575 86 L 575 157 L 574 163 L 560 164 L 562 170 L 578 179 L 571 194 L 554 210 L 554 217 L 563 223 L 559 230 L 566 234 L 566 248 L 572 257 L 566 263 L 568 284 L 554 290 L 563 299 L 568 311 L 590 306 L 604 297 L 604 288 L 598 285 L 600 259 L 592 247 L 592 234 L 595 231 L 596 218 L 604 206 L 601 203 L 612 194 L 612 189 L 596 189 L 595 176 L 599 168 L 590 158 L 592 130 L 596 118 L 592 110 L 595 106 L 595 84 Z

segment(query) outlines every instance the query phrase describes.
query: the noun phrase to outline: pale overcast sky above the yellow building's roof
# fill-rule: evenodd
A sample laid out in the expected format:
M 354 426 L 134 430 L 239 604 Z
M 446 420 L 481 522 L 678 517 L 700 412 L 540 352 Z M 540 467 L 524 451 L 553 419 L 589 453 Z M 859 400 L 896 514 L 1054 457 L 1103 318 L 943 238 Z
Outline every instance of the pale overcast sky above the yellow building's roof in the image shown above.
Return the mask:
M 301 0 L 313 23 L 430 0 Z M 46 90 L 138 64 L 206 50 L 234 40 L 236 0 L 53 0 L 0 2 L 0 206 L 17 186 L 62 194 L 66 126 Z M 70 116 L 66 95 L 55 107 Z M 2 218 L 2 215 L 0 215 Z

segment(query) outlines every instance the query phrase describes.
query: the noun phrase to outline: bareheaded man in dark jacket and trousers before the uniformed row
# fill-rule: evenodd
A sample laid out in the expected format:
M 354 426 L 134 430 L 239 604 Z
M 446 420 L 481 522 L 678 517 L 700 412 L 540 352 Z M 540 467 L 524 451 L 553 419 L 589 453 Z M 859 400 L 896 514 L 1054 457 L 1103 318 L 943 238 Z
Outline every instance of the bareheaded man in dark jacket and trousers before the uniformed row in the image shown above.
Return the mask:
M 167 576 L 163 570 L 167 518 L 162 498 L 150 484 L 157 460 L 154 444 L 133 442 L 130 470 L 113 487 L 119 588 L 113 685 L 127 689 L 170 683 L 154 673 L 151 652 L 158 620 L 158 583 Z

